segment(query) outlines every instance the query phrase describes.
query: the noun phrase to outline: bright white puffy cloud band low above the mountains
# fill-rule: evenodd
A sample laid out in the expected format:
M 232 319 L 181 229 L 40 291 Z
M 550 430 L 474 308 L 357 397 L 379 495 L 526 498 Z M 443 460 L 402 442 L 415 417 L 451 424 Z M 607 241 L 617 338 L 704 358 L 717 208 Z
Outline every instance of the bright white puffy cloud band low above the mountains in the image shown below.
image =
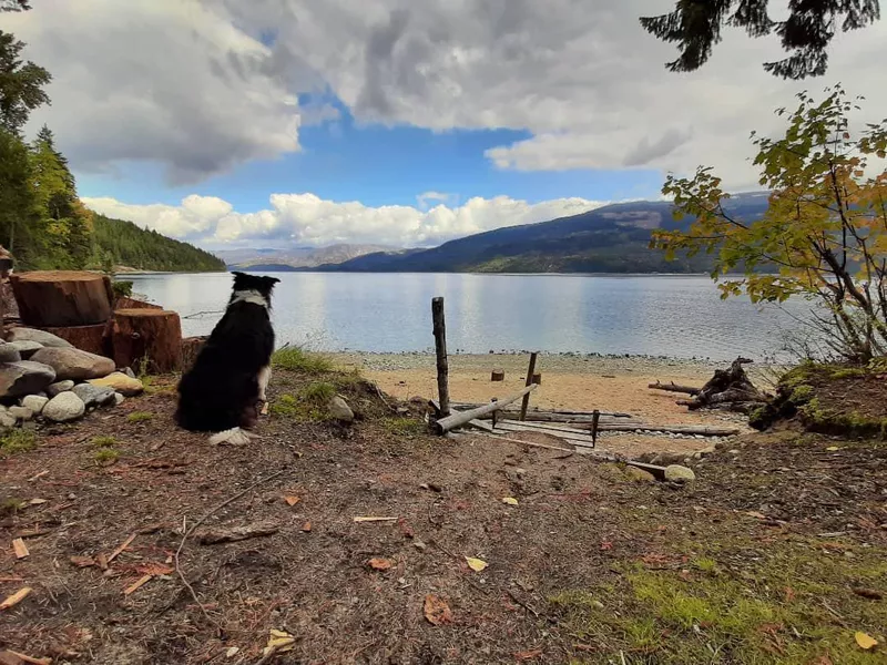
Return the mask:
M 420 209 L 407 205 L 369 207 L 356 201 L 325 201 L 314 194 L 272 194 L 268 208 L 238 213 L 214 196 L 192 195 L 176 206 L 132 205 L 106 197 L 83 202 L 109 217 L 213 248 L 336 243 L 432 246 L 503 226 L 577 215 L 606 203 L 584 198 L 528 203 L 497 196 Z

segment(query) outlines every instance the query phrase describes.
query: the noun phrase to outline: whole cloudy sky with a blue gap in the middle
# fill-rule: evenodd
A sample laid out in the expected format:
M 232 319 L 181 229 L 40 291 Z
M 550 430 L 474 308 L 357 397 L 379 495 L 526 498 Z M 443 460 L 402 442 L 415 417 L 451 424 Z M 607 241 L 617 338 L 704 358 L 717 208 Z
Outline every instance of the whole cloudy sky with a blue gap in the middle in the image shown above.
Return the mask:
M 798 91 L 887 108 L 887 20 L 786 82 L 762 68 L 775 37 L 731 29 L 667 72 L 638 18 L 673 0 L 33 4 L 0 17 L 53 75 L 28 131 L 53 130 L 92 209 L 210 249 L 432 246 L 657 198 L 699 165 L 757 190 L 750 133 Z

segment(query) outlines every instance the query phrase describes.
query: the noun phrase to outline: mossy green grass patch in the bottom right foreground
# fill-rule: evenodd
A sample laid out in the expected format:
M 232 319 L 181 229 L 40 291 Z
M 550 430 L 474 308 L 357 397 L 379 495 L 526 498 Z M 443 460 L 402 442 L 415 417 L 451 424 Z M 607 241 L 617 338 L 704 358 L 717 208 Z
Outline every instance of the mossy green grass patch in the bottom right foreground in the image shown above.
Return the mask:
M 695 549 L 715 554 L 689 570 L 628 564 L 610 585 L 551 596 L 564 630 L 597 647 L 582 662 L 620 663 L 620 652 L 626 663 L 884 662 L 883 653 L 861 651 L 854 632 L 883 640 L 887 606 L 850 590 L 883 586 L 883 549 L 854 549 L 850 559 L 824 555 L 819 539 L 795 536 L 762 552 L 759 543 L 714 544 L 712 536 Z M 751 550 L 757 560 L 737 567 Z

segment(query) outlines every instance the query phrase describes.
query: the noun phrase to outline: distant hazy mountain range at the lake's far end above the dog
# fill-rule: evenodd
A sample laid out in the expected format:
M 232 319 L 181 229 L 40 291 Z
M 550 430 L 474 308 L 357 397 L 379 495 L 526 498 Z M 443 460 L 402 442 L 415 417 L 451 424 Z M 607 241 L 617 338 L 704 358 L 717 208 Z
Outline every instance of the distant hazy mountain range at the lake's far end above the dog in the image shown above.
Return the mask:
M 292 247 L 289 249 L 222 249 L 214 254 L 230 268 L 253 270 L 294 270 L 320 265 L 341 264 L 366 254 L 389 252 L 386 245 L 338 244 L 328 247 Z

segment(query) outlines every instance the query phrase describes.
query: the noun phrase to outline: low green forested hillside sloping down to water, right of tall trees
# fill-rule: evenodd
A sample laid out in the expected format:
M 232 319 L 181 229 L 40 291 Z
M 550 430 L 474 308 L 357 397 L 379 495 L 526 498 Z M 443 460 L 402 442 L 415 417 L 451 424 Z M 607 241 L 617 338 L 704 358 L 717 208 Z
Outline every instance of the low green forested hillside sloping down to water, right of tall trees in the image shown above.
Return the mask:
M 208 252 L 132 222 L 95 215 L 92 235 L 95 267 L 123 265 L 140 270 L 195 273 L 225 269 L 225 263 Z

